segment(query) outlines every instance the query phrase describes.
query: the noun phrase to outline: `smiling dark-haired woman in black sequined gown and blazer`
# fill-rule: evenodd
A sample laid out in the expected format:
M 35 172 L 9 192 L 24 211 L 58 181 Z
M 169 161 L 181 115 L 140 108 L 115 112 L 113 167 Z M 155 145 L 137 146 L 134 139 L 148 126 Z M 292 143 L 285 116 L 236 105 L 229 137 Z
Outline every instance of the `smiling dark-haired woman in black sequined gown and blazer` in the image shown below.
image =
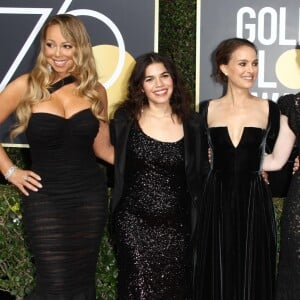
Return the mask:
M 111 122 L 119 299 L 190 299 L 200 126 L 173 62 L 139 57 Z

